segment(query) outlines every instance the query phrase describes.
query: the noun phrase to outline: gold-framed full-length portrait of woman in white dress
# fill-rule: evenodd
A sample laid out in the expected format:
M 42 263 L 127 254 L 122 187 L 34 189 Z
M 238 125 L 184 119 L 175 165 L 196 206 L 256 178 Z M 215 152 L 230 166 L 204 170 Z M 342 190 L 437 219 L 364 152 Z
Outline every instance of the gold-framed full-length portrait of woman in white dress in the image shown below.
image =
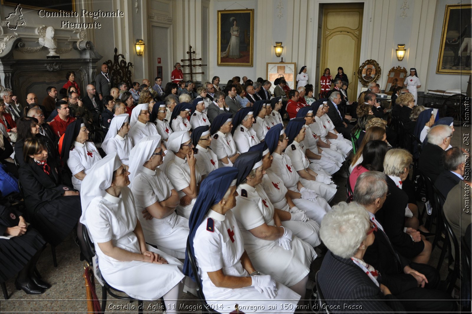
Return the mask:
M 219 10 L 217 21 L 217 65 L 252 67 L 254 9 Z

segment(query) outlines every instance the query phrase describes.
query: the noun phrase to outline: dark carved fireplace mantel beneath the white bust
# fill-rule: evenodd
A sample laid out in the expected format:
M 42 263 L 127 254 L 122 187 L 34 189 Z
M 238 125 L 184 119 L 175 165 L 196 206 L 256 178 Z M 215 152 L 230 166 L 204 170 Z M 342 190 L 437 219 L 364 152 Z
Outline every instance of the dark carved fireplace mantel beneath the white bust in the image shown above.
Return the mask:
M 21 38 L 10 39 L 0 52 L 0 84 L 13 89 L 21 104 L 26 104 L 27 93 L 36 94 L 39 102 L 42 102 L 47 96 L 48 86 L 54 86 L 59 91 L 67 82 L 67 71 L 76 73 L 75 80 L 80 87 L 81 96 L 84 96 L 85 86 L 94 81 L 96 63 L 102 58 L 89 41 L 74 43 L 72 47 L 77 58 L 67 59 L 14 58 L 15 48 L 24 47 L 25 43 Z

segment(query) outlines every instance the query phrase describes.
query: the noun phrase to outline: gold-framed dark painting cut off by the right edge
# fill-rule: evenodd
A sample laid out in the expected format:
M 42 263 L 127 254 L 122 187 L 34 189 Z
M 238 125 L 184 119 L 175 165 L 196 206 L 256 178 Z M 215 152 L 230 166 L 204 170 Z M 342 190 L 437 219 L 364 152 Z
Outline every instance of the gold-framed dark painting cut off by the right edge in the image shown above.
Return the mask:
M 472 5 L 453 4 L 446 6 L 443 29 L 439 44 L 438 65 L 436 73 L 472 74 L 470 60 Z

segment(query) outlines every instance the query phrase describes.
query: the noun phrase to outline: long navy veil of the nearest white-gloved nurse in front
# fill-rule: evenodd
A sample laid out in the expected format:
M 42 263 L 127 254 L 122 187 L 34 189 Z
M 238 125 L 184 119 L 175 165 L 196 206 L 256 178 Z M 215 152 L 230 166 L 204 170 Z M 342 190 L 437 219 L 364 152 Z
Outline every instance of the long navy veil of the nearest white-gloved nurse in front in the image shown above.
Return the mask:
M 188 234 L 188 242 L 190 243 L 190 253 L 195 256 L 194 251 L 194 237 L 197 232 L 197 228 L 202 223 L 208 210 L 211 206 L 215 205 L 228 191 L 231 182 L 236 179 L 238 170 L 234 167 L 222 167 L 213 170 L 208 176 L 202 181 L 200 185 L 200 192 L 198 193 L 197 199 L 194 204 L 194 208 L 190 213 L 188 227 L 190 232 Z M 195 275 L 192 271 L 192 266 L 188 260 L 188 251 L 185 251 L 185 262 L 183 272 L 185 276 L 192 278 L 195 281 Z

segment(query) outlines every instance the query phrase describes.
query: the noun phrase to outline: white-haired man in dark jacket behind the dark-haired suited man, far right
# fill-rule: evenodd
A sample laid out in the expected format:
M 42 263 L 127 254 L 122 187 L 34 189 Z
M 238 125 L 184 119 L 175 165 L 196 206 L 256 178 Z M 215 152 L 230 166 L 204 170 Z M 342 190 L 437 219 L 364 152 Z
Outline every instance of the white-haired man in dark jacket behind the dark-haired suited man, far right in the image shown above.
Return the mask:
M 419 159 L 422 174 L 436 182 L 438 175 L 446 170 L 443 164 L 444 151 L 451 142 L 452 129 L 448 125 L 436 125 L 428 132 L 428 143 L 423 148 Z

